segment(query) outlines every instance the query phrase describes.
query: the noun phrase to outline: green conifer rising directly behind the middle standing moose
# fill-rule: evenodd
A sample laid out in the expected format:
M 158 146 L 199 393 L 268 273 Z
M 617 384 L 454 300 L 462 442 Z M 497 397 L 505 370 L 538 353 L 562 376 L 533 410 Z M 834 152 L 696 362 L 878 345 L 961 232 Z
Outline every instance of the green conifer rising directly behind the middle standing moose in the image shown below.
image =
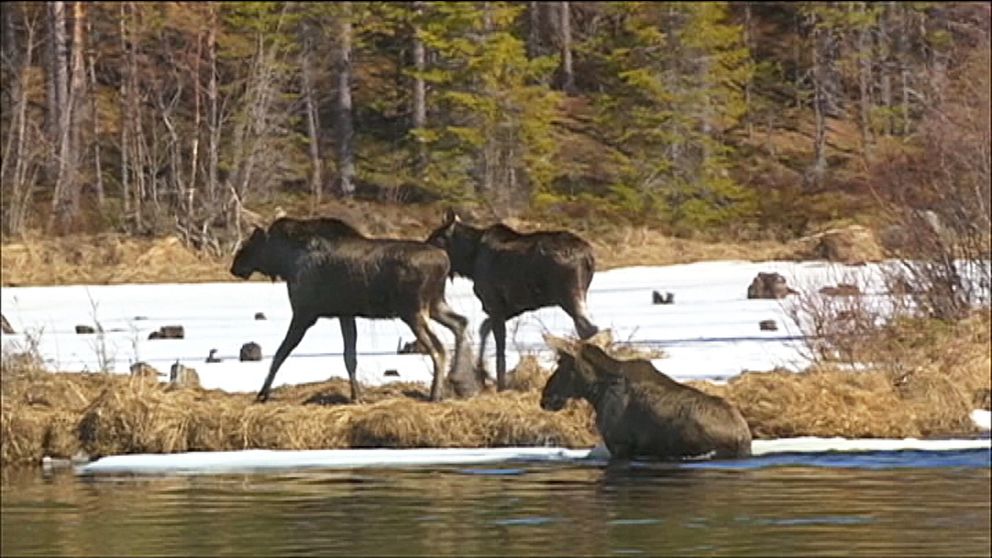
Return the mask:
M 525 41 L 513 33 L 522 6 L 485 4 L 439 2 L 427 10 L 422 38 L 436 58 L 420 77 L 433 87 L 440 118 L 414 133 L 431 148 L 432 188 L 502 206 L 547 188 L 553 177 L 549 129 L 560 95 L 536 78 L 558 61 L 527 58 Z

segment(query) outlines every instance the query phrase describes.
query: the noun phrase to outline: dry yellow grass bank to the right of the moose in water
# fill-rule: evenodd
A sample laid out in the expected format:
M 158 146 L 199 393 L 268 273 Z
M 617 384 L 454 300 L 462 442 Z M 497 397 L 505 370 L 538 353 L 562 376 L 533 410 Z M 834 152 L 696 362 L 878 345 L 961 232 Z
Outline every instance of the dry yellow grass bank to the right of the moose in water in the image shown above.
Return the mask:
M 992 380 L 990 316 L 956 324 L 907 321 L 877 332 L 858 355 L 877 363 L 851 372 L 745 373 L 725 386 L 693 382 L 727 398 L 756 438 L 927 437 L 973 432 L 969 414 Z

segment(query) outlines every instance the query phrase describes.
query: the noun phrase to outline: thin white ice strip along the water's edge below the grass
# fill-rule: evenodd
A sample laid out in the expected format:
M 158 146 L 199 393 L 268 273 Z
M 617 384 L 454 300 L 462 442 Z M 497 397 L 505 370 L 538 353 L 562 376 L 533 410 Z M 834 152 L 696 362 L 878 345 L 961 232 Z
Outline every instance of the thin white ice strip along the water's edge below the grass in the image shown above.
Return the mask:
M 959 451 L 988 449 L 989 439 L 916 440 L 907 438 L 850 440 L 845 438 L 783 438 L 755 440 L 754 456 L 779 453 L 864 451 Z M 592 450 L 566 448 L 418 448 L 338 450 L 244 450 L 173 454 L 117 455 L 98 459 L 77 469 L 83 475 L 100 474 L 205 474 L 280 469 L 422 467 L 477 465 L 507 462 L 580 462 L 608 456 L 602 447 Z

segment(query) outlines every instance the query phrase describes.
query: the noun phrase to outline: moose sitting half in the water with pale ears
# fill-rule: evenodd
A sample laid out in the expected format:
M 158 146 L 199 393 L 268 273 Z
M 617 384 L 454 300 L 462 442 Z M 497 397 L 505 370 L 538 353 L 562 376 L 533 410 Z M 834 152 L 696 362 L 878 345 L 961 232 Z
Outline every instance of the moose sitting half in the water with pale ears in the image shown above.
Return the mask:
M 561 410 L 583 398 L 612 457 L 681 460 L 751 455 L 751 430 L 732 405 L 672 380 L 649 360 L 617 360 L 602 346 L 604 331 L 587 341 L 545 335 L 558 365 L 541 393 L 541 408 Z

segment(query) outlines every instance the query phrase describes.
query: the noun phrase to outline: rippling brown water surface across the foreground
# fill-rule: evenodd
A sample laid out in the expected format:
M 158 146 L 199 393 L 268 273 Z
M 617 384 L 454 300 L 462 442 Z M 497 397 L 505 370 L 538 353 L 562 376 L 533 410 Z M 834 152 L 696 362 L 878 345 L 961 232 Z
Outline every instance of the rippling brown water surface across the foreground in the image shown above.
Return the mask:
M 685 466 L 5 471 L 4 556 L 989 556 L 988 450 Z

